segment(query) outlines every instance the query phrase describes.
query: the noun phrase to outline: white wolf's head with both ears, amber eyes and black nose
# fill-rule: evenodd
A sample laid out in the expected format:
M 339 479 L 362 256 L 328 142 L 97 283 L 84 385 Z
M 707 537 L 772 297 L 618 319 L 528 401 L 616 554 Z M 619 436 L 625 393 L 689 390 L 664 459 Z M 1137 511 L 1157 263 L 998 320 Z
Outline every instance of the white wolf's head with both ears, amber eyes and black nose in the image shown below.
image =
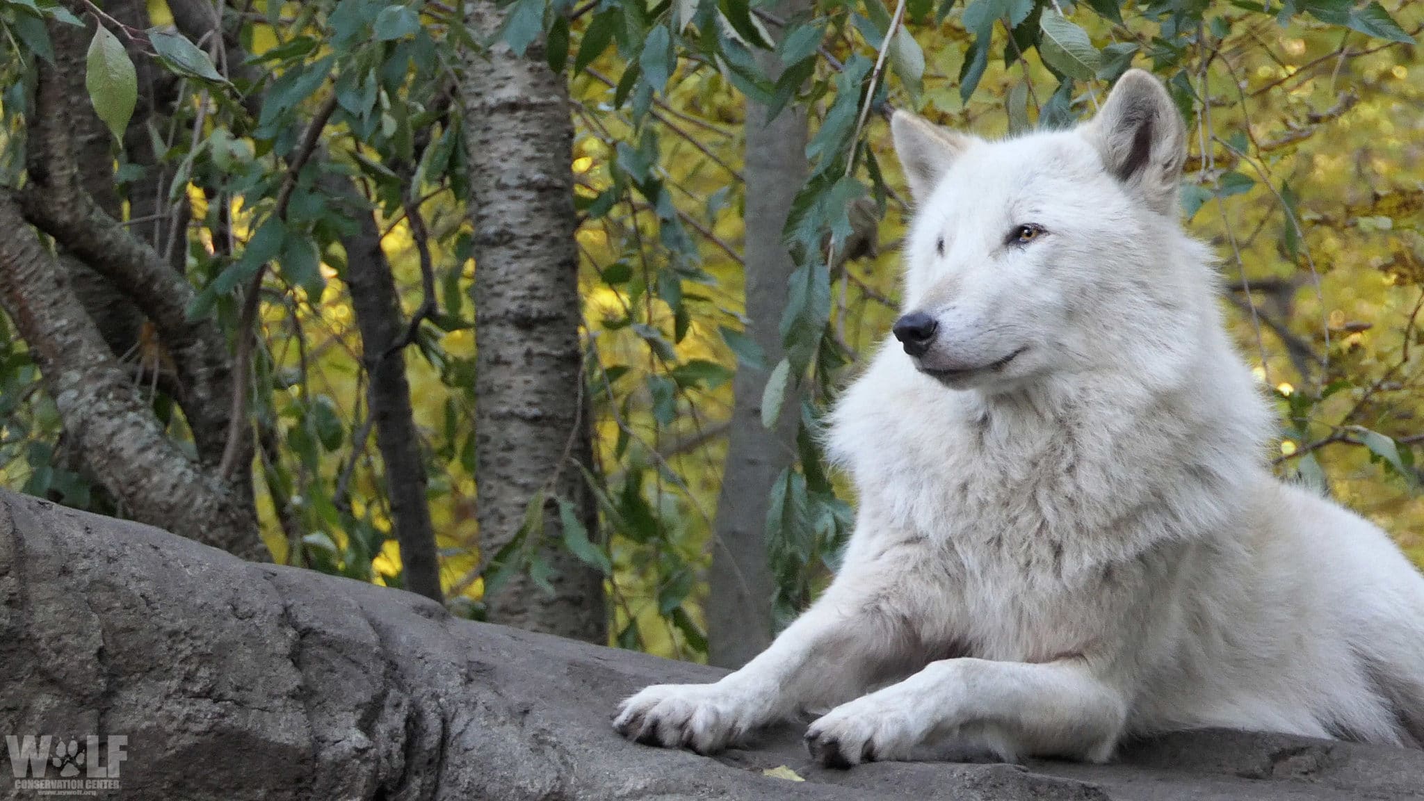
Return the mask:
M 990 143 L 903 111 L 891 128 L 916 201 L 894 336 L 921 372 L 1011 386 L 1101 366 L 1105 331 L 1166 334 L 1186 130 L 1156 78 L 1128 71 L 1072 130 Z

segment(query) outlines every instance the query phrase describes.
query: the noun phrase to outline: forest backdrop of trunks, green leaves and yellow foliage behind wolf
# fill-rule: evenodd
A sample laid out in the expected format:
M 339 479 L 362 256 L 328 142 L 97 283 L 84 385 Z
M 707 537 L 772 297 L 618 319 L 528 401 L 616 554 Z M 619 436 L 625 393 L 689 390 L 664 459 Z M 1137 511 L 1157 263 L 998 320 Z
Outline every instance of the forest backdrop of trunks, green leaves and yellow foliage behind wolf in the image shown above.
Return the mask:
M 0 483 L 738 664 L 824 584 L 884 117 L 1188 120 L 1282 476 L 1424 564 L 1424 7 L 0 0 Z

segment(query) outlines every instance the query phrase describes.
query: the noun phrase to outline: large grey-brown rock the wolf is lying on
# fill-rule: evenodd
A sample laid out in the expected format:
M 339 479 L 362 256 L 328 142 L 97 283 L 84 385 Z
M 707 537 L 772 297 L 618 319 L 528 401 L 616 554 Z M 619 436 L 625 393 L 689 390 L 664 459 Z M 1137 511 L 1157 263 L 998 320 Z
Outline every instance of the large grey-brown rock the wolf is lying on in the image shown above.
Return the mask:
M 0 493 L 0 734 L 127 734 L 124 798 L 1424 798 L 1424 753 L 1269 734 L 827 771 L 795 727 L 719 758 L 609 727 L 644 684 L 718 674 Z M 34 797 L 9 767 L 0 795 Z

